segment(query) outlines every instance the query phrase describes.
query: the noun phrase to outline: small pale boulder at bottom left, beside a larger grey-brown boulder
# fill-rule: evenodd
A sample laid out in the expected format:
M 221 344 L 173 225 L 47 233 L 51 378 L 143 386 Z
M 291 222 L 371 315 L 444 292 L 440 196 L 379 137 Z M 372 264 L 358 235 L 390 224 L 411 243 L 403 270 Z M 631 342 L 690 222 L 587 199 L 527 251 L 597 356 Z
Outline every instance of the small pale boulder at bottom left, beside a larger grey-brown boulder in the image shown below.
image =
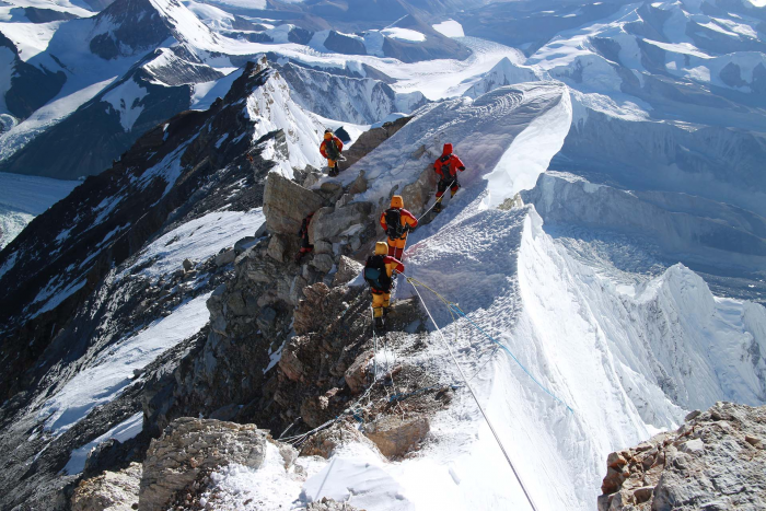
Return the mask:
M 132 511 L 138 506 L 141 472 L 140 464 L 131 463 L 80 481 L 70 501 L 72 511 Z

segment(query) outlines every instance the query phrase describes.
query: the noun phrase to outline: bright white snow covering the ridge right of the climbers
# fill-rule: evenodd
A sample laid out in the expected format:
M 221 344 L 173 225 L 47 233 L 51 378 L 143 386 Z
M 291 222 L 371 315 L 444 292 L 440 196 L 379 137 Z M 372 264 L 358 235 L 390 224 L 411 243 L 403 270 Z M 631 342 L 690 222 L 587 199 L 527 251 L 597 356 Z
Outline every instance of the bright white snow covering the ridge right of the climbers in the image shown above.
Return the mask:
M 625 294 L 550 237 L 533 207 L 490 207 L 530 186 L 536 177 L 530 170 L 544 171 L 560 149 L 568 95 L 537 82 L 445 102 L 426 108 L 367 160 L 390 162 L 449 140 L 472 162 L 444 212 L 410 235 L 406 274 L 459 303 L 515 356 L 419 288 L 537 508 L 584 511 L 595 506 L 610 452 L 719 399 L 766 400 L 758 356 L 766 349 L 766 311 L 715 298 L 682 265 Z M 387 197 L 419 169 L 396 159 L 376 166 L 365 199 Z M 399 278 L 397 298 L 414 295 Z M 414 362 L 444 383 L 462 383 L 438 333 L 429 346 Z M 459 396 L 432 422 L 432 441 L 419 456 L 388 464 L 361 448 L 338 452 L 306 483 L 304 498 L 345 497 L 370 510 L 529 509 L 475 403 L 465 388 Z M 364 475 L 380 481 L 378 489 L 349 483 L 343 490 L 343 481 Z

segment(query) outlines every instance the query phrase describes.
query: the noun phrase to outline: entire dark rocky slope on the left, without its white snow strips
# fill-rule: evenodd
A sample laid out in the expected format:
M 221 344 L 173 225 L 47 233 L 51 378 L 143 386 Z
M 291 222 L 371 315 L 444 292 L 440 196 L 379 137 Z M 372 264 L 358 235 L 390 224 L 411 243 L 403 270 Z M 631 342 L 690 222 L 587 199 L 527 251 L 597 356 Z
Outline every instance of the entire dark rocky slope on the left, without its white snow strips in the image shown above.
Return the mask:
M 260 205 L 263 179 L 272 164 L 251 146 L 254 120 L 243 114 L 239 102 L 272 72 L 249 66 L 225 98 L 208 112 L 185 113 L 170 119 L 166 127 L 151 130 L 113 169 L 86 179 L 0 253 L 0 265 L 13 259 L 0 283 L 0 357 L 16 368 L 3 372 L 0 380 L 4 402 L 0 406 L 3 509 L 22 502 L 37 509 L 65 509 L 63 501 L 50 502 L 53 496 L 63 499 L 71 490 L 68 485 L 77 480 L 77 476 L 59 475 L 69 453 L 140 411 L 147 387 L 161 386 L 159 382 L 172 374 L 179 360 L 201 348 L 209 332 L 206 328 L 163 353 L 118 398 L 94 408 L 58 438 L 44 432 L 39 418 L 27 411 L 28 404 L 44 398 L 51 385 L 72 378 L 89 350 L 108 351 L 126 333 L 141 329 L 170 314 L 182 301 L 231 278 L 228 267 L 219 268 L 214 257 L 189 269 L 179 267 L 158 283 L 140 276 L 115 279 L 114 272 L 130 267 L 131 256 L 150 237 L 179 223 L 223 207 L 251 210 Z M 243 137 L 218 143 L 225 132 Z M 155 172 L 166 159 L 177 163 L 177 178 Z M 103 207 L 107 204 L 112 205 L 108 210 Z M 127 229 L 102 243 L 119 227 Z M 35 295 L 51 280 L 65 289 L 70 282 L 83 286 L 58 306 L 30 317 L 34 312 L 24 311 L 22 303 L 34 303 Z M 85 472 L 140 461 L 149 430 L 144 428 L 144 433 L 125 444 L 104 445 L 89 460 Z M 33 440 L 31 431 L 38 433 Z

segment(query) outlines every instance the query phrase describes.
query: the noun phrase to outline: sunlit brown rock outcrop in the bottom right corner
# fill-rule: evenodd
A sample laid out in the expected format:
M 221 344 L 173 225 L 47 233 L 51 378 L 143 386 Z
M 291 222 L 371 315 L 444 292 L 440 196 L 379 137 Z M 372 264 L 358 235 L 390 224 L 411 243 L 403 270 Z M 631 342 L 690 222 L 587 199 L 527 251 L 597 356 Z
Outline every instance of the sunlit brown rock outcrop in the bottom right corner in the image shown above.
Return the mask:
M 599 511 L 766 509 L 766 406 L 717 403 L 606 463 Z

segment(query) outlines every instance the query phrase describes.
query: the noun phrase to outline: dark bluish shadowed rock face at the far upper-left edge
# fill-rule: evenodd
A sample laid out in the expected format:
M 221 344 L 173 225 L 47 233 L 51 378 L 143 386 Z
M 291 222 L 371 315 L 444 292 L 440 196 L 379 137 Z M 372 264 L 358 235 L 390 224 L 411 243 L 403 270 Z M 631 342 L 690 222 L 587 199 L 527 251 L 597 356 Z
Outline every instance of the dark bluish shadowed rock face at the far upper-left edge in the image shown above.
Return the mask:
M 63 71 L 39 69 L 19 58 L 15 45 L 0 33 L 0 48 L 8 48 L 15 55 L 11 88 L 5 93 L 8 111 L 15 117 L 24 119 L 34 111 L 45 105 L 59 93 L 67 81 Z

